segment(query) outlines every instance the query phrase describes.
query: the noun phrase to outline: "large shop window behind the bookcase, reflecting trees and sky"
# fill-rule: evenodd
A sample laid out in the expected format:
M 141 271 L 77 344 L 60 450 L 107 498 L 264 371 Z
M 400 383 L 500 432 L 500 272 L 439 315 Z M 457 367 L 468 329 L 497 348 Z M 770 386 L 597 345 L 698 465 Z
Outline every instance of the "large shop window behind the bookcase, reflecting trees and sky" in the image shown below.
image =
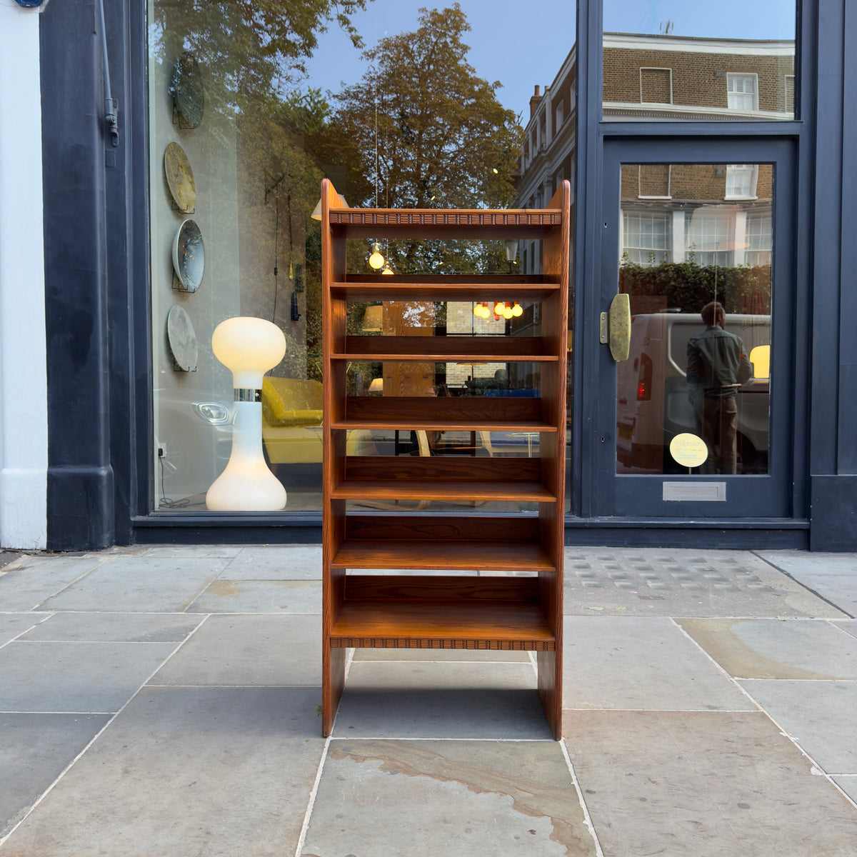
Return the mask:
M 238 315 L 285 333 L 285 358 L 261 389 L 263 449 L 288 491 L 286 511 L 321 508 L 321 229 L 312 213 L 323 177 L 351 206 L 444 208 L 543 205 L 572 177 L 574 3 L 536 0 L 515 19 L 516 42 L 539 45 L 526 63 L 500 50 L 511 25 L 496 3 L 424 7 L 149 0 L 154 508 L 204 511 L 229 460 L 232 378 L 211 341 Z M 538 151 L 525 143 L 526 117 Z M 537 242 L 379 249 L 397 274 L 541 270 Z M 349 247 L 350 270 L 371 273 L 371 250 L 369 241 Z M 430 308 L 430 323 L 413 313 L 396 322 L 394 308 L 356 305 L 355 323 L 370 309 L 382 310 L 382 326 L 503 336 L 534 335 L 524 327 L 539 311 L 522 301 L 512 321 L 493 307 L 483 321 L 472 303 L 449 303 Z M 399 380 L 387 381 L 393 363 Z M 355 391 L 381 379 L 386 395 L 411 379 L 403 363 L 351 367 Z M 536 369 L 442 362 L 428 368 L 425 390 L 531 393 Z M 383 452 L 396 439 L 369 440 Z M 427 440 L 440 454 L 537 454 L 526 437 Z

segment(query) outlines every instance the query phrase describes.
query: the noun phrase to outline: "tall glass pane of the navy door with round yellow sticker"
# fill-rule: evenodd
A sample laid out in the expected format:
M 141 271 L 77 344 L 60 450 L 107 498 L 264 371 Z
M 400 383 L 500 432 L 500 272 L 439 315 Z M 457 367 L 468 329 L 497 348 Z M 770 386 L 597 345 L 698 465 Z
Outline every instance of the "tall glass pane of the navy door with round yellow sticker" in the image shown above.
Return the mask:
M 653 200 L 649 166 L 622 165 L 616 471 L 767 473 L 773 167 L 662 165 Z

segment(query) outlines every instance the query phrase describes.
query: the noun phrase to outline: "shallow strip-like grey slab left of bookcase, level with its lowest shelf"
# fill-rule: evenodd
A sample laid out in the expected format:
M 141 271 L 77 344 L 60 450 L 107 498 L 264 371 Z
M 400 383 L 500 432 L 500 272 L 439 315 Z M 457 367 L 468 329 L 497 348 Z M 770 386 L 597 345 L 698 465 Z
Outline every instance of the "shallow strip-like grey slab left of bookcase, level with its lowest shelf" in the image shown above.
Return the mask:
M 202 621 L 175 613 L 55 613 L 22 640 L 90 643 L 181 643 Z

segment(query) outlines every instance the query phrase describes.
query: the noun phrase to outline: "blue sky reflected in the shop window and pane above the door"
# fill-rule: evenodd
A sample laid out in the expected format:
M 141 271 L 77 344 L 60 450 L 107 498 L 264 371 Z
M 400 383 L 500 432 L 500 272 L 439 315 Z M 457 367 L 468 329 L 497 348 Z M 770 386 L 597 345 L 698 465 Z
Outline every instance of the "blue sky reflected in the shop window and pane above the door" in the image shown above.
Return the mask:
M 366 45 L 385 35 L 417 28 L 430 0 L 374 0 L 355 15 Z M 501 81 L 498 97 L 526 123 L 530 95 L 553 82 L 575 41 L 575 0 L 461 0 L 472 30 L 467 33 L 470 64 L 488 81 Z M 619 33 L 657 33 L 674 22 L 677 36 L 732 39 L 794 39 L 794 0 L 604 0 L 604 28 Z M 365 70 L 361 51 L 332 25 L 308 63 L 309 85 L 339 91 L 340 81 L 358 81 Z

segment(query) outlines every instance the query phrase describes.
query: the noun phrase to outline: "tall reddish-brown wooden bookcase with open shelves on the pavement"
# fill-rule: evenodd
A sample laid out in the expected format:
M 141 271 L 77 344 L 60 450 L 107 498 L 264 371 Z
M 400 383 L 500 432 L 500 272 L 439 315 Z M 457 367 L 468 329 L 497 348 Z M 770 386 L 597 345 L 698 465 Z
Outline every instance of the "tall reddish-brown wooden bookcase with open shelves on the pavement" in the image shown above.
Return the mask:
M 536 651 L 538 692 L 558 739 L 571 192 L 544 209 L 345 208 L 321 186 L 324 339 L 322 730 L 333 728 L 348 648 Z M 346 273 L 347 238 L 536 238 L 524 275 Z M 517 300 L 541 304 L 541 336 L 351 336 L 350 301 Z M 539 398 L 348 396 L 351 361 L 538 363 Z M 355 456 L 353 429 L 537 432 L 538 458 Z M 527 514 L 375 513 L 397 500 L 537 503 Z M 352 507 L 349 508 L 349 504 Z M 359 573 L 407 569 L 406 574 Z M 421 575 L 421 570 L 474 572 Z M 476 576 L 475 572 L 530 572 Z M 357 573 L 355 573 L 357 572 Z

